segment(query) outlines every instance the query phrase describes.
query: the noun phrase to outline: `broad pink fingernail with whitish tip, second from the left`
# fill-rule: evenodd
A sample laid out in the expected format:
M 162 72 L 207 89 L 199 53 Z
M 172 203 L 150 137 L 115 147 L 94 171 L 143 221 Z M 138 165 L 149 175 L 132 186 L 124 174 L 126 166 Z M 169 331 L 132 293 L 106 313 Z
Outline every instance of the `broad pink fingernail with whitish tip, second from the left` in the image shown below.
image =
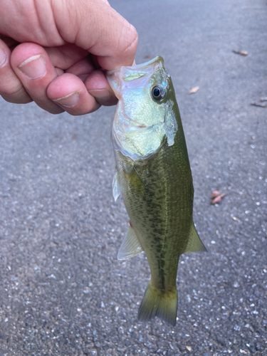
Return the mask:
M 30 79 L 38 79 L 46 74 L 46 61 L 41 54 L 32 56 L 19 65 L 19 70 Z

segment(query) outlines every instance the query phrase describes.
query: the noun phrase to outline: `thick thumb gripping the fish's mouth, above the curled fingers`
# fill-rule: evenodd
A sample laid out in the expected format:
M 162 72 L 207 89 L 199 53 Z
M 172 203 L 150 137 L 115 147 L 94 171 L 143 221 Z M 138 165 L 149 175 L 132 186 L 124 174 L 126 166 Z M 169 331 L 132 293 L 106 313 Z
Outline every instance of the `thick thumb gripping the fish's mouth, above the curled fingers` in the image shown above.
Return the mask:
M 51 1 L 56 28 L 64 41 L 95 55 L 105 70 L 132 66 L 138 36 L 135 27 L 107 1 Z

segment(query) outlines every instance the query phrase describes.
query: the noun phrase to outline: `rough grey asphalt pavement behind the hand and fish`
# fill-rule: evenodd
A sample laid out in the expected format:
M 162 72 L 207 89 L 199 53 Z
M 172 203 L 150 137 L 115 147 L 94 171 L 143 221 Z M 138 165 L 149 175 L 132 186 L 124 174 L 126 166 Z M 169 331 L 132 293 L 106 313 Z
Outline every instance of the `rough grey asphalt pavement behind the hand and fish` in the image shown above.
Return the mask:
M 267 108 L 251 106 L 267 96 L 266 1 L 110 4 L 137 28 L 137 63 L 161 55 L 172 75 L 209 252 L 180 258 L 177 325 L 139 323 L 150 270 L 117 261 L 114 108 L 0 100 L 0 356 L 267 355 Z

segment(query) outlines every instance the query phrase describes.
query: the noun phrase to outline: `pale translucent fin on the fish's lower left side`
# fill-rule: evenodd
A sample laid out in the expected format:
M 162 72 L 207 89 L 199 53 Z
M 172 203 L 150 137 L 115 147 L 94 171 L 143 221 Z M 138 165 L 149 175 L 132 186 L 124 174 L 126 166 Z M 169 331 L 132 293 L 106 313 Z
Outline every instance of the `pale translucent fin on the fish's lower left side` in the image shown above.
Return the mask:
M 135 234 L 135 230 L 132 229 L 132 226 L 129 227 L 127 234 L 120 245 L 120 250 L 117 253 L 118 260 L 127 260 L 138 253 L 142 252 L 142 246 Z

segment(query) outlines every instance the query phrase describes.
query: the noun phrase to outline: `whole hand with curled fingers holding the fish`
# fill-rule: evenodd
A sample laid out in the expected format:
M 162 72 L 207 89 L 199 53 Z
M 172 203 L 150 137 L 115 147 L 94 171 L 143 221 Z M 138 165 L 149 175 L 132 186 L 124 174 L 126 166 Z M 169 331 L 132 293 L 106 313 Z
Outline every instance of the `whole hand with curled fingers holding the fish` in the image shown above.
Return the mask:
M 0 0 L 0 95 L 53 114 L 117 102 L 104 70 L 132 66 L 135 28 L 107 0 Z

